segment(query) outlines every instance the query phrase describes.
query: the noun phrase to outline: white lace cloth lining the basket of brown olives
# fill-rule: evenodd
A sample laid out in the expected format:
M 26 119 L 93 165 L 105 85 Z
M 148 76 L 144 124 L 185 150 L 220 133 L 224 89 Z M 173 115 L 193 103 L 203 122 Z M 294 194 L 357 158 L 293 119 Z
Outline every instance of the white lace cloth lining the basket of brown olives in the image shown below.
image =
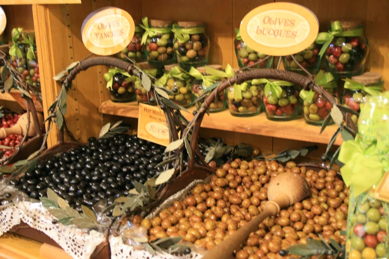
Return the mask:
M 193 189 L 193 187 L 203 183 L 203 180 L 194 180 L 185 189 L 179 191 L 176 194 L 171 195 L 169 198 L 163 201 L 162 204 L 159 205 L 156 210 L 150 215 L 148 215 L 146 218 L 153 218 L 157 213 L 159 213 L 159 211 L 171 206 L 174 201 L 182 200 L 184 197 L 186 197 Z M 199 259 L 203 257 L 203 255 L 195 252 L 192 252 L 189 255 L 182 256 L 174 256 L 168 253 L 156 252 L 156 255 L 153 256 L 146 250 L 138 250 L 132 246 L 124 244 L 121 236 L 114 237 L 113 235 L 111 235 L 109 237 L 109 245 L 111 247 L 111 259 Z

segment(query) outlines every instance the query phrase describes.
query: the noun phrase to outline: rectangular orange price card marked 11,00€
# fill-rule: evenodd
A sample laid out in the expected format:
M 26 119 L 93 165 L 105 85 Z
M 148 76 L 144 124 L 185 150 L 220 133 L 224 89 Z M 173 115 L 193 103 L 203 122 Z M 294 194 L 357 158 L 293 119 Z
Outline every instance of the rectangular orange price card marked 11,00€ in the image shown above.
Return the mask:
M 159 107 L 139 103 L 138 137 L 162 146 L 169 145 L 166 117 Z

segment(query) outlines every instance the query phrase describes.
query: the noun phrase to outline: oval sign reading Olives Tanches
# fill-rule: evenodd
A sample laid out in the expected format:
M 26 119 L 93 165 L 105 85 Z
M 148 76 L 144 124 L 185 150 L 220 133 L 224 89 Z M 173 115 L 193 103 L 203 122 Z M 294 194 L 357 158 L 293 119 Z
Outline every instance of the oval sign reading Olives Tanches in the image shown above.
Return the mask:
M 121 52 L 131 42 L 135 24 L 131 15 L 116 7 L 91 12 L 81 27 L 82 42 L 93 54 L 109 56 Z

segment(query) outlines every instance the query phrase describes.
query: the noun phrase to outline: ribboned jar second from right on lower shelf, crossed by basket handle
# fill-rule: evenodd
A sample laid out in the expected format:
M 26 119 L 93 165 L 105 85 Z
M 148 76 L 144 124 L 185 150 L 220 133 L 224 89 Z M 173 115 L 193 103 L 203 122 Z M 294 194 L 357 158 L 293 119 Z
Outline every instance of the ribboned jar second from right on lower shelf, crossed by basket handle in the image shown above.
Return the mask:
M 315 77 L 315 83 L 338 99 L 338 93 L 335 91 L 337 83 L 331 73 L 320 70 Z M 312 90 L 301 90 L 300 97 L 304 101 L 305 122 L 321 126 L 331 112 L 332 104 Z M 329 124 L 333 124 L 333 121 L 331 120 Z

